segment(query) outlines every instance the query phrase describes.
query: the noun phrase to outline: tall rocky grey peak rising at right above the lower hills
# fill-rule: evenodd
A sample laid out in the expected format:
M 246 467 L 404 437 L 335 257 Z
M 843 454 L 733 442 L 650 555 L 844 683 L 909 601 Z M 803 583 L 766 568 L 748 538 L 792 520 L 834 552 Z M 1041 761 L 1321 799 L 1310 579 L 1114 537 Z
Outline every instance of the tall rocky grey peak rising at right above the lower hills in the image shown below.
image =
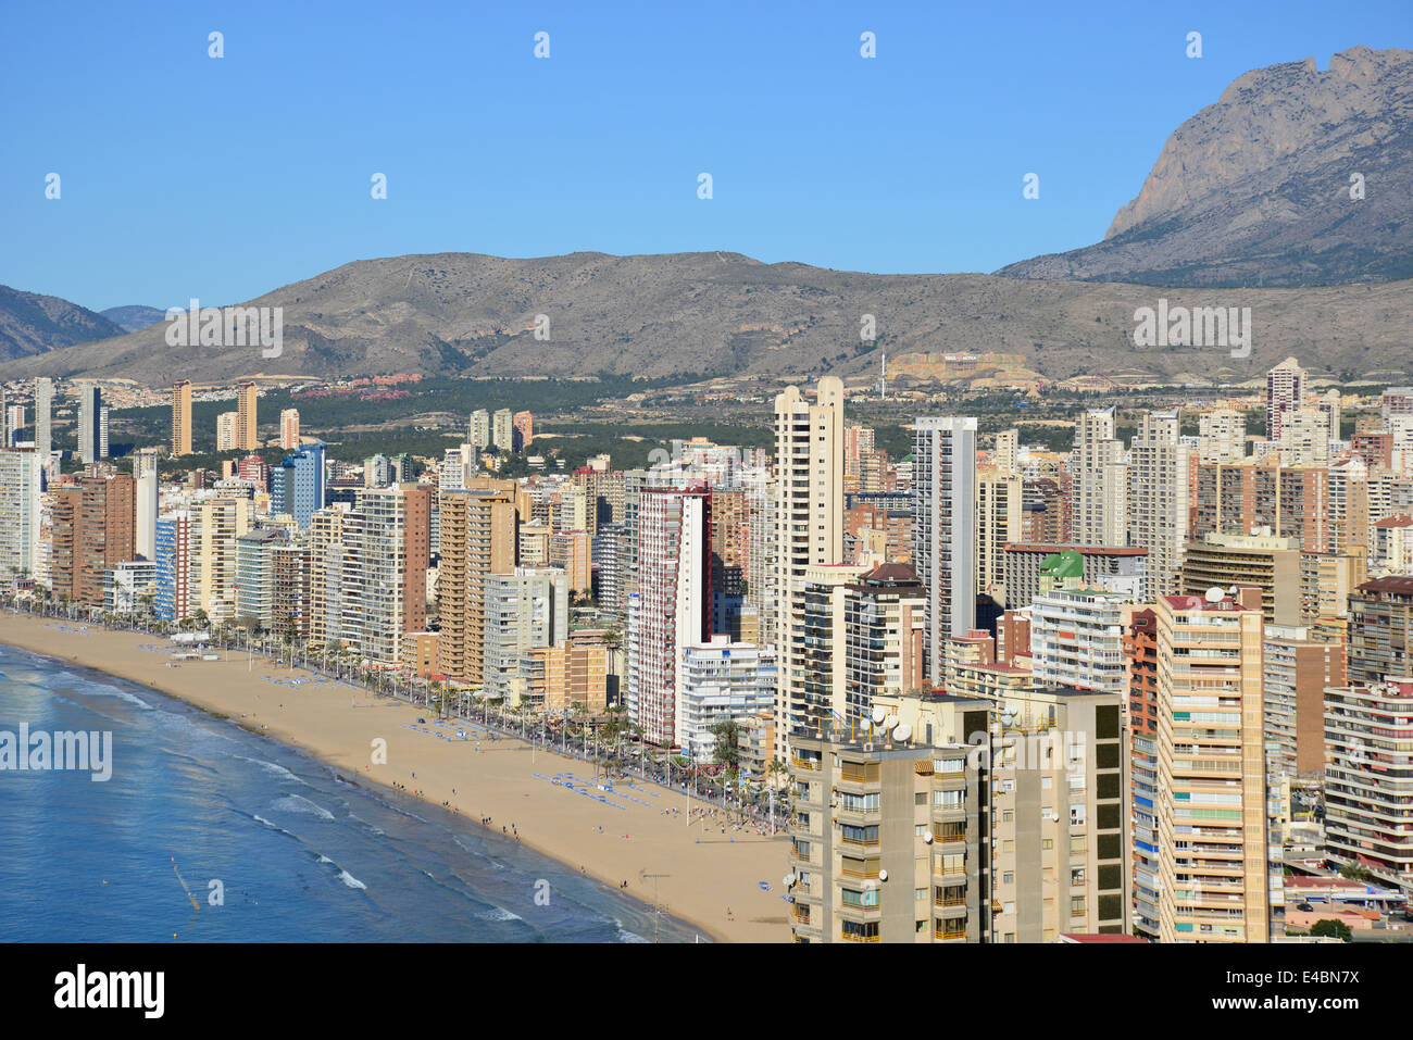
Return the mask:
M 1409 278 L 1410 184 L 1413 51 L 1355 47 L 1325 71 L 1307 58 L 1238 78 L 1167 138 L 1104 242 L 998 274 L 1188 287 Z

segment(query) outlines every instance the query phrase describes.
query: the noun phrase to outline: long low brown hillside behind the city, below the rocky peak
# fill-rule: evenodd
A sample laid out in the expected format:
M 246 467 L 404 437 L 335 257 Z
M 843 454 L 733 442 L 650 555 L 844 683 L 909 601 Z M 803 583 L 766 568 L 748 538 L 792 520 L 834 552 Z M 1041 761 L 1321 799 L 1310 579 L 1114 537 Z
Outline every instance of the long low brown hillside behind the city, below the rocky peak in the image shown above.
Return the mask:
M 345 264 L 250 301 L 281 307 L 278 358 L 168 346 L 167 322 L 0 365 L 0 377 L 93 376 L 164 386 L 247 374 L 805 377 L 873 372 L 877 350 L 1005 353 L 1051 377 L 1245 379 L 1291 353 L 1347 379 L 1413 374 L 1409 283 L 1316 290 L 1157 290 L 985 274 L 859 274 L 733 253 L 512 260 L 469 253 Z M 1249 358 L 1135 348 L 1133 312 L 1251 307 Z M 536 315 L 548 341 L 534 338 Z M 877 339 L 859 339 L 875 315 Z

